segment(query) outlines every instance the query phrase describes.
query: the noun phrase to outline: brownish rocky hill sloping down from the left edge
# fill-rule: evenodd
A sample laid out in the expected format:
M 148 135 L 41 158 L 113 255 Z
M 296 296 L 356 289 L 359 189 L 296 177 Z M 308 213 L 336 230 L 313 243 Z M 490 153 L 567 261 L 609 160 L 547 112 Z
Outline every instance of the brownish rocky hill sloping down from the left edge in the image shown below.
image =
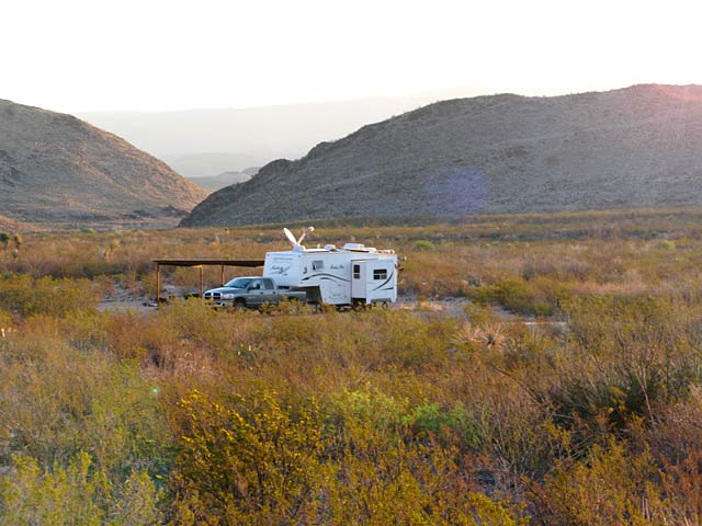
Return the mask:
M 125 140 L 0 101 L 0 211 L 53 228 L 168 225 L 206 192 Z

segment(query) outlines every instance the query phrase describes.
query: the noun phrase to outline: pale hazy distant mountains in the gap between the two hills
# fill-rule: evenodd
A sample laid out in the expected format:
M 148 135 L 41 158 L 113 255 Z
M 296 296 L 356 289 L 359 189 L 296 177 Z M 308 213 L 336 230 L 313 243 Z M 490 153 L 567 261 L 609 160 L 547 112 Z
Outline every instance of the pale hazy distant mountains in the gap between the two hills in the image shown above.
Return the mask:
M 479 91 L 464 85 L 346 101 L 167 112 L 84 112 L 77 116 L 163 159 L 181 175 L 205 176 L 260 167 L 280 157 L 297 159 L 320 140 L 343 137 L 364 124 Z M 229 164 L 207 173 L 216 162 L 208 152 L 231 156 Z

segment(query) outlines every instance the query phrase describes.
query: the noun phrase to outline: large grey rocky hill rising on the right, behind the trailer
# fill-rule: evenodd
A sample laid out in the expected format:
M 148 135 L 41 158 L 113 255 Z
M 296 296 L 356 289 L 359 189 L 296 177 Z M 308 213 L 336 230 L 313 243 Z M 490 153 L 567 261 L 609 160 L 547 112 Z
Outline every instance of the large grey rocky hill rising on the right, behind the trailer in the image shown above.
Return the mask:
M 321 142 L 181 225 L 702 204 L 702 87 L 431 104 Z

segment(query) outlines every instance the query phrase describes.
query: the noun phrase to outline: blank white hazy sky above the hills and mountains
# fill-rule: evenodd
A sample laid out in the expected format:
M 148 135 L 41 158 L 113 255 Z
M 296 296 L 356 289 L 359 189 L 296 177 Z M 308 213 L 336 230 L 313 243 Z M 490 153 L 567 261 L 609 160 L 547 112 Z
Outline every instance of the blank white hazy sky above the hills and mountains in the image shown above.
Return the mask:
M 700 15 L 675 0 L 0 0 L 0 99 L 160 111 L 702 83 Z

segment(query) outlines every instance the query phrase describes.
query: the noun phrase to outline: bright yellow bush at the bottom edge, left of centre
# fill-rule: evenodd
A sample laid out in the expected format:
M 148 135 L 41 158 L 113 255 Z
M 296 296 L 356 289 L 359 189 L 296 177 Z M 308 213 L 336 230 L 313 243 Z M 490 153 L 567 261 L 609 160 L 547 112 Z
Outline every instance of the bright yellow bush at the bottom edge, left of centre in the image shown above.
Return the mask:
M 274 392 L 211 402 L 193 391 L 174 479 L 179 519 L 295 524 L 316 515 L 319 414 Z

